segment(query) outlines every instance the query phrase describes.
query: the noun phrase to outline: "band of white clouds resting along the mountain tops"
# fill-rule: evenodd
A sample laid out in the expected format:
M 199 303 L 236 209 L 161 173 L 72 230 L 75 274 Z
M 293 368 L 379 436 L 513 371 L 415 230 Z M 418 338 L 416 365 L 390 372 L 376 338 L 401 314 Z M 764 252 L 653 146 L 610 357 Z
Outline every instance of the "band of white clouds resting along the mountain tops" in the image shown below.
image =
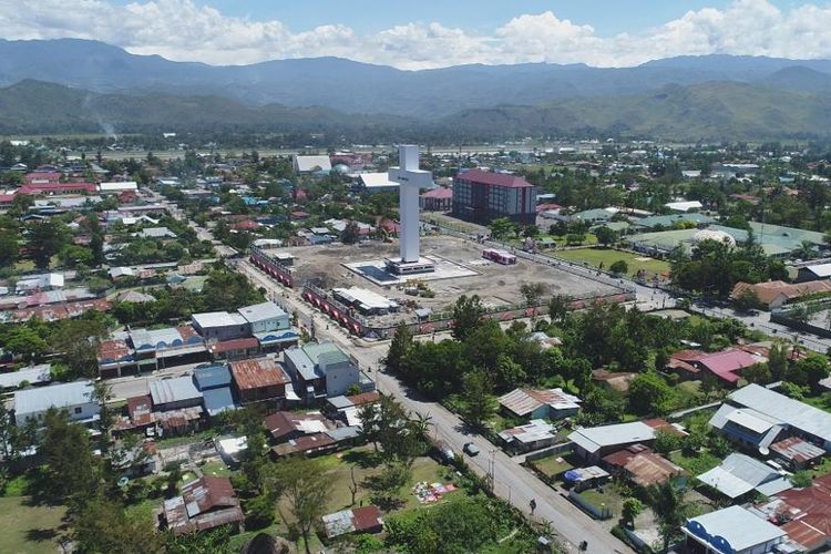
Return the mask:
M 638 34 L 603 37 L 591 24 L 551 11 L 522 14 L 492 34 L 440 23 L 408 23 L 376 34 L 346 25 L 302 32 L 280 21 L 224 16 L 193 0 L 38 0 L 22 8 L 0 0 L 0 33 L 8 39 L 98 39 L 141 54 L 213 64 L 338 55 L 425 69 L 461 63 L 585 62 L 633 65 L 680 54 L 831 58 L 831 8 L 806 3 L 779 10 L 768 0 L 735 0 L 704 8 Z

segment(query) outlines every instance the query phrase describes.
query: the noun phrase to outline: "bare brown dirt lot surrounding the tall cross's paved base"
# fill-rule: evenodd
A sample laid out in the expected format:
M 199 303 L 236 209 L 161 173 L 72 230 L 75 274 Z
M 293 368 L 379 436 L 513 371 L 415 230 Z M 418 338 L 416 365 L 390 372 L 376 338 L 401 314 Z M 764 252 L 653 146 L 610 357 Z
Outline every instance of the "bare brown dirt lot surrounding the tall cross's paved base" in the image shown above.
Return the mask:
M 460 295 L 479 295 L 489 306 L 504 306 L 522 301 L 520 286 L 523 283 L 542 283 L 547 295 L 565 294 L 574 297 L 584 295 L 613 294 L 615 289 L 593 280 L 577 277 L 552 267 L 520 259 L 514 266 L 502 266 L 482 258 L 482 246 L 472 242 L 449 236 L 424 237 L 421 255 L 443 258 L 475 271 L 470 277 L 440 280 L 424 280 L 424 285 L 435 294 L 433 298 L 404 295 L 402 286 L 381 287 L 371 283 L 342 264 L 394 257 L 398 244 L 369 243 L 367 246 L 307 246 L 291 249 L 296 276 L 299 283 L 319 279 L 322 288 L 361 287 L 381 294 L 406 305 L 413 301 L 418 307 L 441 311 L 451 306 Z M 400 319 L 400 316 L 396 318 Z

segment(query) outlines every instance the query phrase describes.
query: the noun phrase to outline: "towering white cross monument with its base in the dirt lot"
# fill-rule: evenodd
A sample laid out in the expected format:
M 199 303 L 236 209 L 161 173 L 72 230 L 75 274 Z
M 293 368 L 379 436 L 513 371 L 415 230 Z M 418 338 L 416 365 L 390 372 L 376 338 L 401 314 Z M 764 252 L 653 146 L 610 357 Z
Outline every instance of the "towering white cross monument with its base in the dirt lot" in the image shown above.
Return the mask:
M 433 175 L 429 171 L 419 170 L 418 145 L 399 146 L 398 160 L 399 167 L 390 167 L 389 178 L 399 184 L 399 257 L 387 260 L 387 270 L 396 275 L 433 271 L 433 260 L 422 258 L 419 252 L 419 193 L 422 188 L 433 187 Z

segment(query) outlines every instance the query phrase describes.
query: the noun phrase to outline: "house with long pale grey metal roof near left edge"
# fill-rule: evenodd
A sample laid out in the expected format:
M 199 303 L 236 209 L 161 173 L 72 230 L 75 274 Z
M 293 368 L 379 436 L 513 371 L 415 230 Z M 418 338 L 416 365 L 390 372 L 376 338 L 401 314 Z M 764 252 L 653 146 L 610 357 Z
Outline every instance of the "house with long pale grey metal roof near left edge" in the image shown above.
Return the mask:
M 92 381 L 74 381 L 14 391 L 14 421 L 39 420 L 50 408 L 65 410 L 71 421 L 90 423 L 99 419 L 101 406 Z

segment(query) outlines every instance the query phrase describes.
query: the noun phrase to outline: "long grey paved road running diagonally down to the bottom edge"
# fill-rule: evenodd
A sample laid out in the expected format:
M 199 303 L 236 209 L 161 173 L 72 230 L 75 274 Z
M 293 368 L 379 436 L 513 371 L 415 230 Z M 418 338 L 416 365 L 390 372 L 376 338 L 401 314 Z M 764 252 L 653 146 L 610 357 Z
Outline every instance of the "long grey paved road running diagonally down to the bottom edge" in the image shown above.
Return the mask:
M 296 310 L 300 325 L 309 328 L 314 320 L 317 337 L 335 341 L 358 359 L 362 368 L 375 378 L 382 392 L 398 398 L 411 412 L 429 417 L 435 435 L 450 444 L 454 451 L 461 453 L 466 442 L 475 443 L 482 453 L 475 458 L 468 458 L 471 466 L 480 475 L 485 475 L 490 468 L 493 468 L 494 492 L 523 512 L 529 513 L 529 503 L 532 499 L 536 500 L 537 507 L 534 517 L 550 522 L 560 534 L 560 538 L 567 542 L 566 546 L 571 551 L 575 552 L 574 545 L 585 540 L 588 541 L 591 553 L 632 552 L 602 524 L 588 517 L 529 470 L 495 449 L 486 439 L 471 433 L 454 413 L 435 402 L 425 400 L 417 392 L 407 390 L 394 377 L 380 371 L 381 360 L 389 348 L 388 343 L 367 346 L 353 340 L 339 326 L 330 324 L 328 318 L 304 302 L 297 290 L 284 288 L 248 261 L 239 260 L 237 268 L 256 286 L 265 287 L 268 296 L 275 298 L 284 308 L 289 311 Z

